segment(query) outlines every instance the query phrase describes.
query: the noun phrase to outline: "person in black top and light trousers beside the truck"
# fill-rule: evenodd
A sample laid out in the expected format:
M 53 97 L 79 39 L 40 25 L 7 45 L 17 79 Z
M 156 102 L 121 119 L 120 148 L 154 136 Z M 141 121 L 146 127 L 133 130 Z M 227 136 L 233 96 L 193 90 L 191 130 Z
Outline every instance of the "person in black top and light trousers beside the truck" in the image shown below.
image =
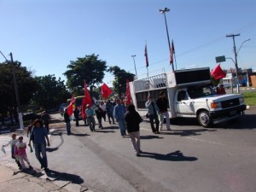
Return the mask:
M 162 131 L 163 128 L 164 117 L 166 117 L 166 129 L 167 131 L 171 131 L 170 116 L 168 113 L 168 100 L 166 99 L 166 95 L 163 90 L 160 91 L 160 96 L 156 100 L 156 104 L 160 110 L 160 131 Z

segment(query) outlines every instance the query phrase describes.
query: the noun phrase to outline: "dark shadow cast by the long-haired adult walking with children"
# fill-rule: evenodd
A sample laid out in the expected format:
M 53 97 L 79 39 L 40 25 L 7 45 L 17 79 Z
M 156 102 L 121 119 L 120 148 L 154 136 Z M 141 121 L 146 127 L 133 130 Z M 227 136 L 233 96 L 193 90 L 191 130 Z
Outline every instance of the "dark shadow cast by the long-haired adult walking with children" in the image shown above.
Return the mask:
M 56 172 L 53 170 L 49 170 L 48 172 L 45 172 L 45 174 L 48 177 L 53 177 L 61 181 L 70 181 L 72 183 L 81 184 L 84 183 L 84 179 L 79 177 L 78 175 L 74 175 L 67 172 Z

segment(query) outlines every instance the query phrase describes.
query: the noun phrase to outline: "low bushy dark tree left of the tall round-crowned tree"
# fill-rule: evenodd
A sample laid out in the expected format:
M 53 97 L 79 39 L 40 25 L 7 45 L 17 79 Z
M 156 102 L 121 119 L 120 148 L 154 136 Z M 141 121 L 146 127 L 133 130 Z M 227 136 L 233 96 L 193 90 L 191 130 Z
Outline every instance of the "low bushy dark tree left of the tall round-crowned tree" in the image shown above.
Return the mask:
M 32 102 L 45 109 L 55 108 L 70 98 L 70 93 L 61 78 L 55 75 L 46 75 L 35 78 L 38 82 L 38 90 L 33 96 Z

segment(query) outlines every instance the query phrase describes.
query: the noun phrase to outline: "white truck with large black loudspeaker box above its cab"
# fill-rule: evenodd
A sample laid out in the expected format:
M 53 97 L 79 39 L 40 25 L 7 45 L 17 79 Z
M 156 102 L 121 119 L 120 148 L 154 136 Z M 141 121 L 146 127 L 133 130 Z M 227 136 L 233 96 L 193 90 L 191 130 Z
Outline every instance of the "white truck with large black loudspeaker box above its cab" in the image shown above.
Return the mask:
M 170 118 L 197 118 L 208 127 L 243 114 L 246 105 L 241 94 L 218 95 L 212 88 L 208 67 L 161 73 L 130 83 L 131 99 L 141 115 L 147 114 L 148 95 L 157 99 L 166 92 Z

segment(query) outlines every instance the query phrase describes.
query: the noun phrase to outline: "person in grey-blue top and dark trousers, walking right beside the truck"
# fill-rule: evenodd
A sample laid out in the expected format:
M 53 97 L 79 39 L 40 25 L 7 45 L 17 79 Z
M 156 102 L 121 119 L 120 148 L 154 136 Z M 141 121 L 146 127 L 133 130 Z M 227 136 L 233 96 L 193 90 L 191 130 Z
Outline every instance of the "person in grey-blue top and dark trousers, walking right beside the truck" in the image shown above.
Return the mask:
M 151 125 L 151 130 L 155 134 L 160 133 L 159 132 L 159 124 L 160 121 L 158 119 L 158 114 L 160 113 L 159 108 L 152 99 L 152 96 L 148 96 L 148 101 L 145 103 L 145 107 L 148 108 L 148 117 Z M 155 128 L 154 128 L 154 123 L 155 123 Z

